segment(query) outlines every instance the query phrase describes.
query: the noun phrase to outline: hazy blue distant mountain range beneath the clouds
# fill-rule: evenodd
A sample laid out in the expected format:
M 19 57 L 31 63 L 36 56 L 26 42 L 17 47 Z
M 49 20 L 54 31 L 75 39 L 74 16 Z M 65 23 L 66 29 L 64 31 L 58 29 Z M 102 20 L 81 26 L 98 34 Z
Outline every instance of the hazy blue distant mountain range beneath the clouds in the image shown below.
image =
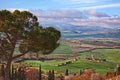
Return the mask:
M 53 26 L 62 32 L 62 38 L 120 38 L 120 28 L 97 26 L 75 26 L 65 23 L 42 23 Z

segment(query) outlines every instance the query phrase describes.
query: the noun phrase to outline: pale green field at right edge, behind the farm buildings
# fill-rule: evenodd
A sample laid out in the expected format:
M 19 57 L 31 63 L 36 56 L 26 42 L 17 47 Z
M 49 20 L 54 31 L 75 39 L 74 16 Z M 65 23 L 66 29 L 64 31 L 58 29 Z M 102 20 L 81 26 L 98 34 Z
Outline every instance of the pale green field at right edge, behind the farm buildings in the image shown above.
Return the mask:
M 106 59 L 108 62 L 120 64 L 120 49 L 97 49 L 92 52 L 80 53 L 80 55 L 87 58 L 94 55 L 95 58 Z

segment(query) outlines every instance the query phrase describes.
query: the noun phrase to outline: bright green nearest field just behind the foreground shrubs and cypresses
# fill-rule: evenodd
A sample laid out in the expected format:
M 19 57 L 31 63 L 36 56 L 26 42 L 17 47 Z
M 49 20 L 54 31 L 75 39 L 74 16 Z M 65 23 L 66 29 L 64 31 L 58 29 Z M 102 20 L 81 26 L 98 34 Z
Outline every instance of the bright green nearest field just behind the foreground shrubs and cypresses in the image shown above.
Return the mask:
M 86 68 L 95 69 L 96 72 L 106 73 L 110 71 L 114 71 L 115 64 L 112 63 L 98 63 L 98 62 L 88 62 L 85 60 L 73 61 L 71 64 L 67 64 L 65 66 L 59 66 L 58 64 L 65 63 L 68 60 L 52 60 L 52 61 L 36 61 L 36 60 L 25 60 L 23 63 L 31 64 L 32 67 L 38 67 L 40 64 L 43 70 L 55 70 L 55 71 L 65 71 L 69 69 L 70 72 L 79 72 L 80 70 L 84 70 Z

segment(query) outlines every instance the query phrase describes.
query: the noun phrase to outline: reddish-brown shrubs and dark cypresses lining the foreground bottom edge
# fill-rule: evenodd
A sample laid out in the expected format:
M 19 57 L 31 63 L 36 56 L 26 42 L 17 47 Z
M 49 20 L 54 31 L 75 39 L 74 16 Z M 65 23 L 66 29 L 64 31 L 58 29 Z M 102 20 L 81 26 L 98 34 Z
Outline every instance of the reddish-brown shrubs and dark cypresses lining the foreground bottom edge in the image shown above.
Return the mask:
M 0 64 L 0 80 L 5 79 L 5 64 Z M 107 80 L 112 77 L 120 76 L 120 66 L 115 72 L 107 72 L 106 74 L 96 73 L 94 69 L 80 70 L 79 73 L 69 73 L 64 70 L 63 74 L 56 75 L 54 70 L 43 72 L 41 65 L 38 68 L 26 67 L 26 65 L 18 64 L 10 67 L 9 80 Z

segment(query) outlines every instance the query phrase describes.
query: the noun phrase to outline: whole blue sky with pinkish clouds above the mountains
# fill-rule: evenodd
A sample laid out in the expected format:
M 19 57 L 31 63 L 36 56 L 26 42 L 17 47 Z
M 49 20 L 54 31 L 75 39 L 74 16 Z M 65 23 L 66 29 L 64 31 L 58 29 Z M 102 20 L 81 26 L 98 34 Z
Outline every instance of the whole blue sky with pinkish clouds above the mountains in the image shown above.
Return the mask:
M 120 0 L 0 0 L 0 10 L 27 10 L 39 21 L 120 27 Z

